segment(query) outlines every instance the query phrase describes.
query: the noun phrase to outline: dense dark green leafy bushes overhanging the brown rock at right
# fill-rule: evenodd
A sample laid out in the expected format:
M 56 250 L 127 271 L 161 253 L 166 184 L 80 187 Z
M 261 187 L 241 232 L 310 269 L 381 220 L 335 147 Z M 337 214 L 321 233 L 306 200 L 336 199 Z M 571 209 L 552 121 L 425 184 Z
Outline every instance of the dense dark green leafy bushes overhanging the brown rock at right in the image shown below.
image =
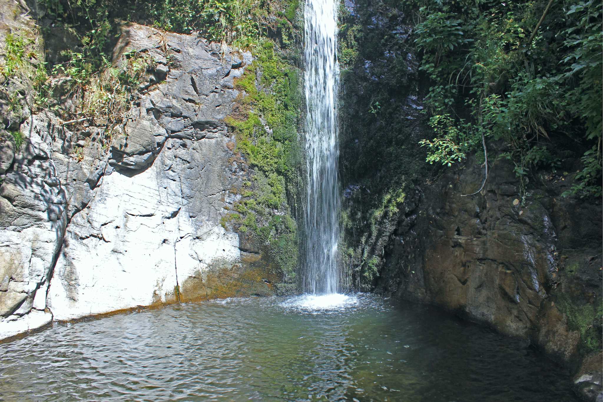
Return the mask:
M 554 4 L 532 43 L 545 2 L 406 4 L 418 9 L 420 69 L 434 82 L 426 105 L 437 137 L 421 141 L 428 162 L 451 166 L 483 135 L 504 144 L 499 156 L 516 165 L 525 191 L 532 168 L 554 170 L 578 150 L 583 168 L 564 195 L 601 195 L 601 1 Z M 469 122 L 459 117 L 467 106 Z

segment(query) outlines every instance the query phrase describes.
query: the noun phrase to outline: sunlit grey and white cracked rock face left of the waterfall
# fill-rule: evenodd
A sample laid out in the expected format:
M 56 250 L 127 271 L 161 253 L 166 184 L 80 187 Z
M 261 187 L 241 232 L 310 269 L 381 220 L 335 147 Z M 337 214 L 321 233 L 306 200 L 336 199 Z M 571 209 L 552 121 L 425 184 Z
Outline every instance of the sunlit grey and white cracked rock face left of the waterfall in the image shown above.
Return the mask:
M 115 131 L 44 111 L 21 124 L 20 148 L 2 147 L 0 338 L 52 319 L 272 294 L 279 280 L 220 222 L 249 175 L 224 118 L 251 55 L 126 24 L 114 64 L 127 68 L 131 51 L 152 71 Z

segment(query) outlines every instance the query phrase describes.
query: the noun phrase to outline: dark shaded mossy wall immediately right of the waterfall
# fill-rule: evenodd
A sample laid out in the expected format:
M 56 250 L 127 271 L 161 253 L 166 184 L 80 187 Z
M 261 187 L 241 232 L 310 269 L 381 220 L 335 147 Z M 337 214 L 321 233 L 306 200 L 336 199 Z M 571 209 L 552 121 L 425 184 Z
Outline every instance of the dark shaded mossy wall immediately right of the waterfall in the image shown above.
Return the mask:
M 341 2 L 341 260 L 362 291 L 373 289 L 404 201 L 430 170 L 418 146 L 425 89 L 411 30 L 393 2 Z

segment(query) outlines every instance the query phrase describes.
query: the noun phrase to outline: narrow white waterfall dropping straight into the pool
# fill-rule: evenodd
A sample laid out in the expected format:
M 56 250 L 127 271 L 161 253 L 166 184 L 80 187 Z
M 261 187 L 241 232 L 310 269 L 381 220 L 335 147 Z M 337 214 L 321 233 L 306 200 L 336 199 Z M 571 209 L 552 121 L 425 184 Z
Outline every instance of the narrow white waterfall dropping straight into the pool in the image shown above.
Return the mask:
M 339 287 L 337 5 L 335 0 L 306 0 L 304 11 L 308 193 L 303 290 L 312 294 L 333 294 Z

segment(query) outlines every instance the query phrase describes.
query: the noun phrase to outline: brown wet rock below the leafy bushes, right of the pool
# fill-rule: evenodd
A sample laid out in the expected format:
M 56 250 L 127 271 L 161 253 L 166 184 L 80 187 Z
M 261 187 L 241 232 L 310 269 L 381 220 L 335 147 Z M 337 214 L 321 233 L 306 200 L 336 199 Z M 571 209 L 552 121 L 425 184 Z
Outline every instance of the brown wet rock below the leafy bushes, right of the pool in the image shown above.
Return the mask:
M 481 193 L 461 196 L 481 174 L 474 163 L 421 186 L 388 238 L 377 291 L 529 339 L 573 370 L 587 356 L 600 363 L 601 204 L 558 196 L 563 175 L 520 203 L 502 161 Z M 594 400 L 601 368 L 587 371 L 576 388 Z

